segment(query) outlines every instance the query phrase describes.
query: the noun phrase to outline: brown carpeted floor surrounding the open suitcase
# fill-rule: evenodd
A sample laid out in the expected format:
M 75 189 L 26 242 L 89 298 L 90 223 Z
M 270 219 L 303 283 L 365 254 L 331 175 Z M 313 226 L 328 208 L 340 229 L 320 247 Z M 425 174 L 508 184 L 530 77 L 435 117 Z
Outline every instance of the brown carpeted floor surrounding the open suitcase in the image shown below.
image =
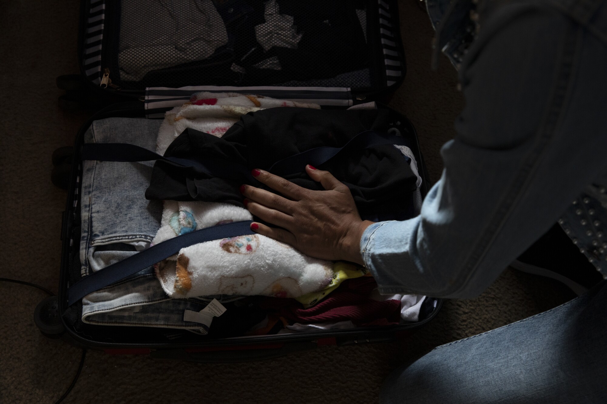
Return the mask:
M 454 135 L 463 106 L 446 59 L 431 72 L 432 27 L 416 0 L 400 2 L 407 78 L 390 106 L 418 129 L 433 181 L 439 148 Z M 66 195 L 50 183 L 50 155 L 72 144 L 86 113 L 57 107 L 55 77 L 76 73 L 78 1 L 0 6 L 0 210 L 7 231 L 0 277 L 56 291 L 60 212 Z M 446 301 L 438 316 L 399 342 L 322 347 L 256 363 L 206 365 L 89 352 L 66 403 L 373 403 L 382 379 L 437 345 L 537 314 L 573 297 L 564 286 L 507 269 L 478 298 Z M 80 349 L 43 337 L 32 313 L 44 294 L 0 283 L 0 402 L 52 403 L 69 385 Z M 436 374 L 439 374 L 437 369 Z M 436 377 L 429 374 L 428 377 Z

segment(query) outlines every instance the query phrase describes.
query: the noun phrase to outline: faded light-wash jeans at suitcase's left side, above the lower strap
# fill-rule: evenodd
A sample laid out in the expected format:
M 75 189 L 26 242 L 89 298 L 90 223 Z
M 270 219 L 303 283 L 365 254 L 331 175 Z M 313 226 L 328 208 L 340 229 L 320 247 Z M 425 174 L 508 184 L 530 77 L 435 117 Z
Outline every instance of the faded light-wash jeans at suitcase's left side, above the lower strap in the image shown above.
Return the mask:
M 107 118 L 93 122 L 84 134 L 84 142 L 131 143 L 155 150 L 159 127 L 160 122 L 156 120 Z M 137 243 L 146 247 L 154 239 L 160 228 L 162 202 L 148 201 L 144 197 L 153 165 L 153 161 L 83 161 L 80 198 L 82 275 L 98 271 L 135 252 L 123 251 L 118 256 L 112 251 L 97 251 L 98 246 Z

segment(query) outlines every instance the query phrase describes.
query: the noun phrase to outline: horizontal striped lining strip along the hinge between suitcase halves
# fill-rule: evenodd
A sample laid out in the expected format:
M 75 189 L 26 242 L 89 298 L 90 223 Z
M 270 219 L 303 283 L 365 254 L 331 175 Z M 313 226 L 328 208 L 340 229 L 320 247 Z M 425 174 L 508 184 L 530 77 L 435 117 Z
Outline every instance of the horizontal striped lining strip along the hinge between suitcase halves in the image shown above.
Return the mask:
M 146 88 L 145 108 L 148 118 L 163 118 L 164 112 L 180 106 L 190 96 L 200 91 L 212 93 L 241 93 L 263 95 L 286 99 L 297 103 L 313 103 L 322 106 L 351 106 L 353 104 L 350 87 L 218 87 L 188 86 L 178 89 L 169 87 Z

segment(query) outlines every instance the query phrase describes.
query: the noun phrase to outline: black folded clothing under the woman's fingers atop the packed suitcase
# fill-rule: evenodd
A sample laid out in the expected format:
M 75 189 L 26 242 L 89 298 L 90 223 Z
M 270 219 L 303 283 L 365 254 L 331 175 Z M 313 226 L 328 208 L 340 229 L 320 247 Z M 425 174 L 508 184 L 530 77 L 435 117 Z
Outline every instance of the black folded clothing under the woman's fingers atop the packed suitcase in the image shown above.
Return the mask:
M 164 156 L 200 163 L 208 159 L 224 160 L 251 169 L 269 169 L 276 161 L 314 147 L 342 147 L 365 130 L 386 132 L 391 122 L 388 110 L 266 109 L 242 116 L 222 138 L 187 129 Z M 416 177 L 402 153 L 392 145 L 348 150 L 317 168 L 330 171 L 350 188 L 361 217 L 376 218 L 378 212 L 384 220 L 411 216 Z M 285 178 L 307 189 L 322 190 L 304 169 L 301 167 L 301 172 Z M 157 161 L 146 198 L 243 206 L 240 185 L 242 182 Z

